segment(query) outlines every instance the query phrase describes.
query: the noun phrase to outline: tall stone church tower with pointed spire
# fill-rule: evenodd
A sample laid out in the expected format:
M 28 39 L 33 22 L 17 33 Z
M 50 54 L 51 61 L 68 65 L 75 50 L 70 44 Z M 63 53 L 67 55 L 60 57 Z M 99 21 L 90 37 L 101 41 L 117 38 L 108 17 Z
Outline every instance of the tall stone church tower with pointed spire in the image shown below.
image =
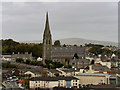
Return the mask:
M 52 59 L 52 38 L 49 27 L 48 12 L 46 14 L 46 24 L 43 34 L 43 64 L 45 65 L 46 59 Z

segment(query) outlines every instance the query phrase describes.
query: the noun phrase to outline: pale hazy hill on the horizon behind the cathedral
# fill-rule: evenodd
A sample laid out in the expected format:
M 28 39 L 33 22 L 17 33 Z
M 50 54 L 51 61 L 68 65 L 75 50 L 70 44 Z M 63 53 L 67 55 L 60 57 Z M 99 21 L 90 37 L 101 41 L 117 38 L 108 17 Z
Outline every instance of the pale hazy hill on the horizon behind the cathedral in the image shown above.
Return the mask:
M 118 43 L 116 42 L 110 42 L 110 41 L 98 41 L 98 40 L 87 40 L 82 38 L 65 38 L 65 39 L 59 39 L 61 44 L 68 44 L 68 45 L 84 45 L 85 43 L 92 43 L 92 44 L 102 44 L 102 45 L 112 45 L 112 46 L 118 46 Z M 54 43 L 55 40 L 53 40 Z M 42 41 L 22 41 L 23 43 L 42 43 Z

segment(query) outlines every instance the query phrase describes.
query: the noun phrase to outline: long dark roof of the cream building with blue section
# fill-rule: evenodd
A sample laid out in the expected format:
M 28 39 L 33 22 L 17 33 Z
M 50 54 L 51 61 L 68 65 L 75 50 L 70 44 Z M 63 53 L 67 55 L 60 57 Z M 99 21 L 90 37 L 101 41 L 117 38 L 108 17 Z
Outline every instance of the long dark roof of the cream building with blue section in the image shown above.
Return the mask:
M 34 77 L 31 78 L 30 81 L 58 81 L 58 80 L 71 81 L 73 79 L 78 80 L 75 77 Z

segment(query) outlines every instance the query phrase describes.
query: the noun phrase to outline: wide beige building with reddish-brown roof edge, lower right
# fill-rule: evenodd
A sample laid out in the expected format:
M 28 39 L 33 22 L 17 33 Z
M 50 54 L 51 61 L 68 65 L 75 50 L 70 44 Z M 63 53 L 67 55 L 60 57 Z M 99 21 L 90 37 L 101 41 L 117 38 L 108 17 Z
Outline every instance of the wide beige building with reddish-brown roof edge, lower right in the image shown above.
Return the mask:
M 99 85 L 99 84 L 110 84 L 108 74 L 99 73 L 79 73 L 75 75 L 79 79 L 81 85 Z

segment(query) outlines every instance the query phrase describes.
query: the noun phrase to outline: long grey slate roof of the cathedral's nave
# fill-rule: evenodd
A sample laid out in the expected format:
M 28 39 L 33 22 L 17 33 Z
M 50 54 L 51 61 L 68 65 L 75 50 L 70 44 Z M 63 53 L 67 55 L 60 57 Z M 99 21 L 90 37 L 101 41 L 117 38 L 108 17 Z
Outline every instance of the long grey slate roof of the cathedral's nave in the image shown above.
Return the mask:
M 67 47 L 52 47 L 52 53 L 77 53 L 84 54 L 84 47 L 67 46 Z

